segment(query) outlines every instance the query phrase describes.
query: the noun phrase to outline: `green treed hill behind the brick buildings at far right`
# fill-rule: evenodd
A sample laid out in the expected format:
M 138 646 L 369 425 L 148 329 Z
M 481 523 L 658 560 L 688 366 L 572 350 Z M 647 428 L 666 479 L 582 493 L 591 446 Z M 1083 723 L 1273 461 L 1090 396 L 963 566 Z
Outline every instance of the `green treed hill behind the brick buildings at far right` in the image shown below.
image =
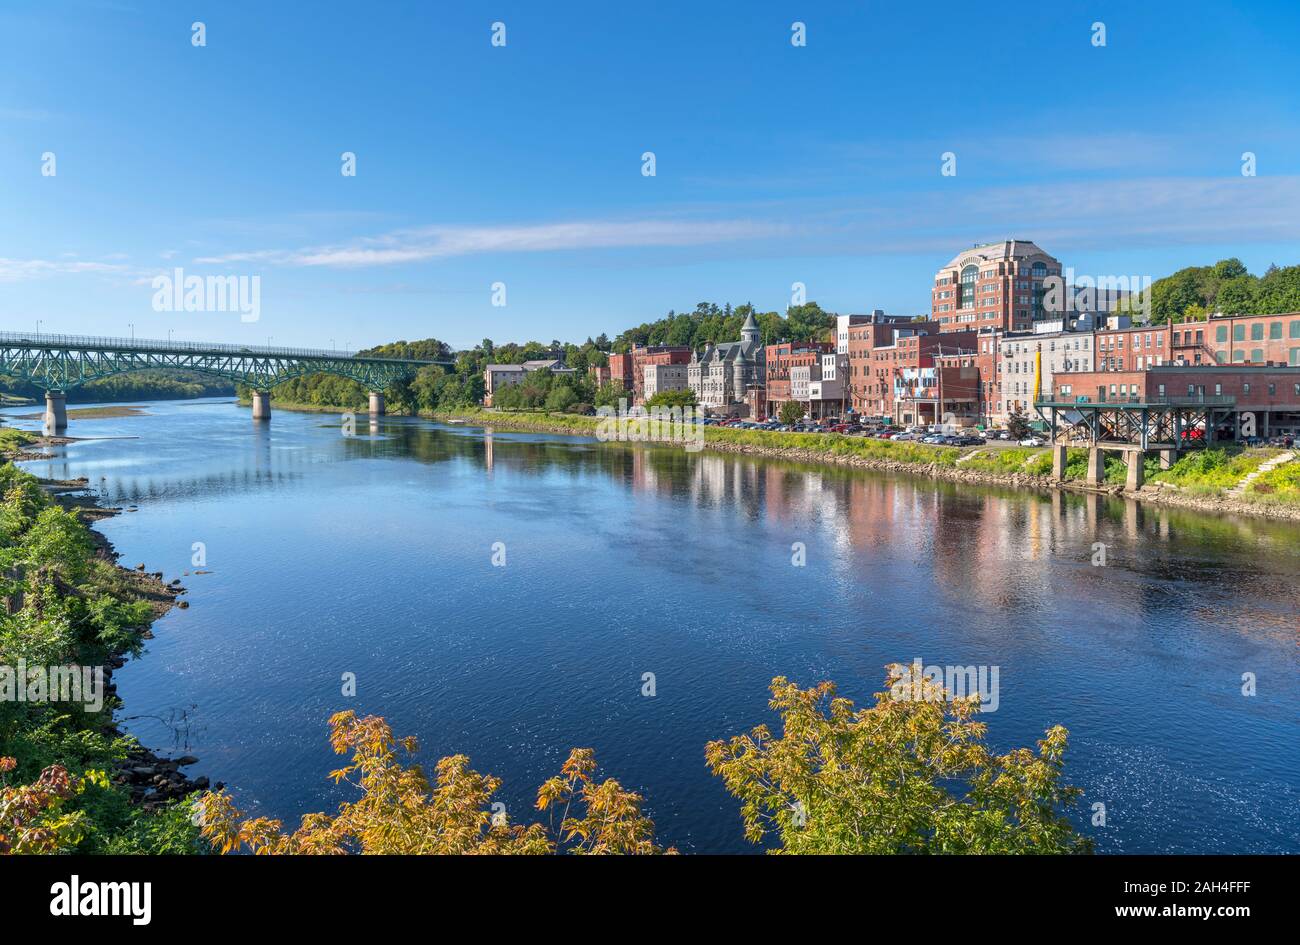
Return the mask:
M 1270 265 L 1264 276 L 1252 276 L 1239 259 L 1188 266 L 1152 282 L 1150 303 L 1154 322 L 1300 312 L 1300 265 Z

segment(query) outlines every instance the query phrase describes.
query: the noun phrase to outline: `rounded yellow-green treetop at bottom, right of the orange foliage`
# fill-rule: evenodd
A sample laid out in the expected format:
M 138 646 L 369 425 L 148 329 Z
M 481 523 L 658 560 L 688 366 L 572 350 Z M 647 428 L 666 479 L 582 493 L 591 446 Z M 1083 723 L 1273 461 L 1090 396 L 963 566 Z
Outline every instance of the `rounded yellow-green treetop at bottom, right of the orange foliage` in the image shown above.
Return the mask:
M 745 836 L 774 853 L 1091 853 L 1063 811 L 1067 733 L 1037 753 L 993 755 L 979 697 L 948 698 L 927 677 L 889 668 L 888 692 L 855 708 L 835 685 L 772 680 L 783 734 L 767 725 L 710 742 L 705 758 L 741 801 Z

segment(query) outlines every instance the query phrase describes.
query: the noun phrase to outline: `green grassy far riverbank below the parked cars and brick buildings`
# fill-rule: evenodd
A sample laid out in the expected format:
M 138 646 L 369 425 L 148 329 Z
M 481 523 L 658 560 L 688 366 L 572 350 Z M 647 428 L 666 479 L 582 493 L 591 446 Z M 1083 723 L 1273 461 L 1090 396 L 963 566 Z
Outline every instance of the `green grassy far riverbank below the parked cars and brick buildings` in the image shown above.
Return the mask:
M 467 407 L 424 413 L 511 430 L 598 434 L 599 419 L 573 413 L 507 412 Z M 679 446 L 680 448 L 680 446 Z M 1031 447 L 946 447 L 835 433 L 774 433 L 705 428 L 705 448 L 751 456 L 831 463 L 889 473 L 911 473 L 952 482 L 1015 489 L 1065 490 L 1123 495 L 1141 502 L 1205 512 L 1252 515 L 1300 521 L 1300 448 L 1223 447 L 1184 452 L 1170 469 L 1148 458 L 1145 485 L 1124 490 L 1124 465 L 1106 458 L 1106 482 L 1084 482 L 1088 451 L 1071 448 L 1065 481 L 1052 478 L 1052 452 Z M 1290 459 L 1295 456 L 1295 459 Z

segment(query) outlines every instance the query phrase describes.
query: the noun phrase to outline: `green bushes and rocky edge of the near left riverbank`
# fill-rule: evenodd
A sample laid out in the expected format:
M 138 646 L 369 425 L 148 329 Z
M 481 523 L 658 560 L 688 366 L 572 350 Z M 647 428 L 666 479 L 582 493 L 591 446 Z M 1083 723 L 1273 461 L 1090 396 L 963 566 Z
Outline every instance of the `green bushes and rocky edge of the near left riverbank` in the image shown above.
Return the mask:
M 0 430 L 0 854 L 199 853 L 182 772 L 122 733 L 113 671 L 138 656 L 179 580 L 117 564 L 88 521 L 114 515 L 84 480 L 40 481 L 14 456 L 48 441 Z

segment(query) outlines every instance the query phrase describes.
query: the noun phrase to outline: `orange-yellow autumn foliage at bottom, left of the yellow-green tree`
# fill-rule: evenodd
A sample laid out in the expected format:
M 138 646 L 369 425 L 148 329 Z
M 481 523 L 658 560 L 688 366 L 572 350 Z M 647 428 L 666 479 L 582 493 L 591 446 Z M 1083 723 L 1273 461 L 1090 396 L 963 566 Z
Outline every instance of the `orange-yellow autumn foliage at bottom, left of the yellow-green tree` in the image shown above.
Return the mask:
M 590 749 L 575 749 L 538 790 L 537 809 L 552 815 L 551 824 L 525 827 L 491 810 L 500 780 L 472 770 L 464 755 L 438 760 L 430 784 L 419 764 L 404 760 L 417 750 L 416 740 L 394 737 L 381 718 L 335 714 L 330 746 L 351 754 L 351 763 L 330 777 L 356 786 L 358 801 L 342 803 L 333 816 L 308 814 L 285 833 L 280 820 L 244 820 L 229 794 L 209 793 L 198 802 L 203 836 L 222 853 L 257 854 L 664 853 L 641 812 L 641 796 L 612 779 L 598 783 Z

